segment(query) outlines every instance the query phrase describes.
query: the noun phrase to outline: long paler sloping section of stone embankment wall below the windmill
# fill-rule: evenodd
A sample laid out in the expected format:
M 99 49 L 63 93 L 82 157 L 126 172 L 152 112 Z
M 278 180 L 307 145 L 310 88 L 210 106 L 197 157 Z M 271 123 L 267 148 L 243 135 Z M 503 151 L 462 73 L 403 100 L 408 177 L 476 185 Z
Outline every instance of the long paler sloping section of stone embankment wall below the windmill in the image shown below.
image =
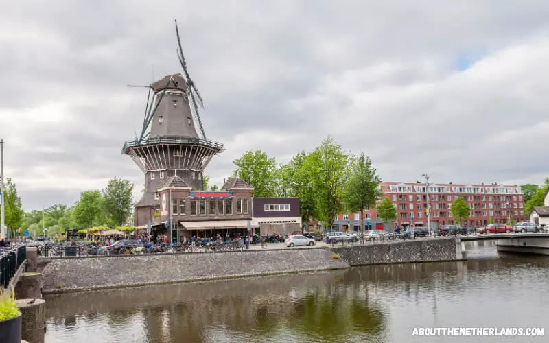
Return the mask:
M 323 248 L 51 259 L 44 292 L 349 268 Z

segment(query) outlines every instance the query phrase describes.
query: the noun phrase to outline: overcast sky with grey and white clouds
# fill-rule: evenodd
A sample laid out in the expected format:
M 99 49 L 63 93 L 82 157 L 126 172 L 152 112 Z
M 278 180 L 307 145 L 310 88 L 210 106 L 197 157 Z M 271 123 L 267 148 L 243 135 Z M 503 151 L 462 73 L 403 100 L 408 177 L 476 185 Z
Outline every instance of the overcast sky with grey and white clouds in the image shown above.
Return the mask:
M 0 137 L 25 209 L 123 176 L 149 84 L 179 73 L 174 19 L 225 144 L 286 162 L 327 135 L 384 181 L 549 176 L 549 1 L 1 1 Z M 154 64 L 154 72 L 152 64 Z

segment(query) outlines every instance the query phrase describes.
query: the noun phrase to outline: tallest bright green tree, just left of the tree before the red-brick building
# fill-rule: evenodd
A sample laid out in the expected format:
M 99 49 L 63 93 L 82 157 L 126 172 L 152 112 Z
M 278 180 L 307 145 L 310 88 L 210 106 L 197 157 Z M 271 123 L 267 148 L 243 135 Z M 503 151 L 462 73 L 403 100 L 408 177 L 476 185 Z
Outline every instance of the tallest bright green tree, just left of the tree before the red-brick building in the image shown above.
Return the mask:
M 303 162 L 303 170 L 316 193 L 315 213 L 327 228 L 343 210 L 343 186 L 348 175 L 348 161 L 347 152 L 328 137 Z

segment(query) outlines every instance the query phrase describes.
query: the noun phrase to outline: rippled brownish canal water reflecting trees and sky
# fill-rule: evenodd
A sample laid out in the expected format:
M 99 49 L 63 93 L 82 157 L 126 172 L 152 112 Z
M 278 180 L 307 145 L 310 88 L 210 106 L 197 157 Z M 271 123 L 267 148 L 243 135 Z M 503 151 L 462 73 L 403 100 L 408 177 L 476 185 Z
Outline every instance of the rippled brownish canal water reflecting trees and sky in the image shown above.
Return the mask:
M 467 262 L 47 296 L 46 342 L 547 342 L 549 257 L 502 255 L 495 241 L 465 248 Z M 417 337 L 414 327 L 541 327 L 545 337 Z

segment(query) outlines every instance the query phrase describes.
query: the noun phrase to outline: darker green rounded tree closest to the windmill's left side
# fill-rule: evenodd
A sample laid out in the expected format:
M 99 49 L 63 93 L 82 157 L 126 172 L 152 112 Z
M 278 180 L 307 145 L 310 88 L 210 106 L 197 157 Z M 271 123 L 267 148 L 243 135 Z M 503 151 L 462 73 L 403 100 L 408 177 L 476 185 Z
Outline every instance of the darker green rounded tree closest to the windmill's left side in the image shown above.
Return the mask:
M 132 213 L 133 183 L 123 178 L 113 178 L 101 191 L 105 215 L 115 226 L 123 226 Z M 82 201 L 82 200 L 80 200 Z

